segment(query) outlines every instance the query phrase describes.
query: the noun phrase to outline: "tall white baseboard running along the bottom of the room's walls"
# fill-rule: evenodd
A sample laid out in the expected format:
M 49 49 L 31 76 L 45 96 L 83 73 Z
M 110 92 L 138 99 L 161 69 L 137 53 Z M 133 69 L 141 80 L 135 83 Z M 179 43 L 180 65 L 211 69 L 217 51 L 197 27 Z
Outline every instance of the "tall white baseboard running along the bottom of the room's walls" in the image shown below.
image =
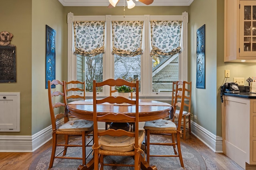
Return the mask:
M 62 121 L 58 122 L 58 125 Z M 99 129 L 105 129 L 105 123 L 98 123 Z M 143 129 L 144 122 L 140 122 L 139 129 Z M 214 152 L 222 153 L 222 137 L 218 137 L 195 122 L 191 121 L 192 133 L 207 145 Z M 42 131 L 32 136 L 0 136 L 0 152 L 34 152 L 46 142 L 52 139 L 52 126 L 48 126 Z

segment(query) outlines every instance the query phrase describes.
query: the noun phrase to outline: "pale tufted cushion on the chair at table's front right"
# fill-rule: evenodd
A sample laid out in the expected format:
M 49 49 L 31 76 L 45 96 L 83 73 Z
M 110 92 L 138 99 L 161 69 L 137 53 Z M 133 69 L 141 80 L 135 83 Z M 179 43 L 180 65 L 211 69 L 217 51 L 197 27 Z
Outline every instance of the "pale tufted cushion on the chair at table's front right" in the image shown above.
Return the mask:
M 177 127 L 176 124 L 170 120 L 158 119 L 153 121 L 146 121 L 144 129 L 175 131 Z

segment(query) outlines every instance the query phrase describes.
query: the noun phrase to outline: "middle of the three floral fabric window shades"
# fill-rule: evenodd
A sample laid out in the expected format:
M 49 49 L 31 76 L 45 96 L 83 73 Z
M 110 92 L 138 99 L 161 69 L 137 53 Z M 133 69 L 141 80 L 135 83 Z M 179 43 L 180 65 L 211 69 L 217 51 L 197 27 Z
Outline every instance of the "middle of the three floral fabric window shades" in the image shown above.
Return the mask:
M 113 54 L 134 57 L 142 54 L 143 21 L 112 21 Z

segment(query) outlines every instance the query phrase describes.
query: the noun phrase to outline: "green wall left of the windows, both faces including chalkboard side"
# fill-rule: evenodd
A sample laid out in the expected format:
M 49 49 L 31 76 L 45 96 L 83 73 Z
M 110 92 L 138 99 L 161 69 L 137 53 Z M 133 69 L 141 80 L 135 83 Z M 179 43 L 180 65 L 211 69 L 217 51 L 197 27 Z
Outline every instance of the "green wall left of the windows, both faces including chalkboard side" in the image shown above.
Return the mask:
M 5 0 L 1 6 L 0 31 L 14 35 L 17 82 L 0 83 L 0 92 L 20 92 L 20 132 L 0 135 L 34 135 L 51 125 L 45 89 L 46 25 L 56 30 L 56 78 L 67 80 L 66 14 L 58 0 Z

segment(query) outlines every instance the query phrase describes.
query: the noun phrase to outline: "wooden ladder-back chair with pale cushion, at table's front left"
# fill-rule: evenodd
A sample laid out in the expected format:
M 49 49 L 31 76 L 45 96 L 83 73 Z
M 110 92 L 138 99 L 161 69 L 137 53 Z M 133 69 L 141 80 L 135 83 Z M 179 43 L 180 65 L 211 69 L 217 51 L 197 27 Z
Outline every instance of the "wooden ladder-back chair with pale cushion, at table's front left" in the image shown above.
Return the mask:
M 55 86 L 55 88 L 52 88 Z M 52 121 L 52 154 L 49 168 L 52 168 L 55 158 L 81 159 L 86 164 L 86 136 L 93 131 L 93 121 L 74 120 L 69 121 L 68 113 L 65 114 L 66 103 L 66 82 L 59 80 L 48 80 L 48 99 L 50 107 L 50 117 Z M 56 124 L 56 121 L 64 119 L 62 125 Z M 57 143 L 57 137 L 64 135 L 65 143 Z M 70 136 L 82 136 L 82 145 L 69 144 Z M 56 154 L 56 147 L 63 147 L 63 150 Z M 82 157 L 66 156 L 68 147 L 82 147 Z M 59 156 L 63 153 L 62 156 Z

